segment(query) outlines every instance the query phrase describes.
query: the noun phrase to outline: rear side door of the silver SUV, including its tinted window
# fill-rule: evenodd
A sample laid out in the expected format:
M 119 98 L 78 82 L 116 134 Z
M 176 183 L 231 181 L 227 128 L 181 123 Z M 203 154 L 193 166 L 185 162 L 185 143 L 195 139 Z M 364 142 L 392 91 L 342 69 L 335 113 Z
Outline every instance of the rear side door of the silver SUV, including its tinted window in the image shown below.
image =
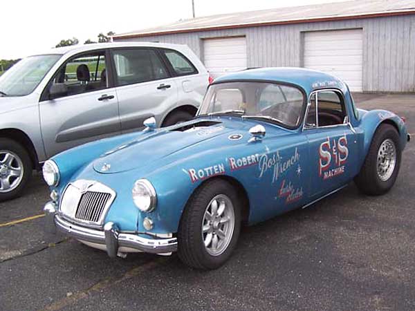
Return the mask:
M 161 117 L 177 102 L 177 85 L 155 48 L 111 49 L 123 133 L 142 129 L 148 117 Z

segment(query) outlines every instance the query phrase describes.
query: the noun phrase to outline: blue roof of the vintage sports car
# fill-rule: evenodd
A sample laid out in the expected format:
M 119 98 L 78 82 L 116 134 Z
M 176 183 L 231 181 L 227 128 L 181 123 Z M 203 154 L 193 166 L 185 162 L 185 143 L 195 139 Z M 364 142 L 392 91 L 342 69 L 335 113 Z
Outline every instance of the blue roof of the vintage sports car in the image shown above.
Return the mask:
M 309 94 L 320 88 L 338 88 L 347 93 L 347 86 L 341 79 L 322 71 L 295 67 L 255 68 L 230 73 L 214 79 L 214 83 L 241 80 L 271 81 L 295 84 Z

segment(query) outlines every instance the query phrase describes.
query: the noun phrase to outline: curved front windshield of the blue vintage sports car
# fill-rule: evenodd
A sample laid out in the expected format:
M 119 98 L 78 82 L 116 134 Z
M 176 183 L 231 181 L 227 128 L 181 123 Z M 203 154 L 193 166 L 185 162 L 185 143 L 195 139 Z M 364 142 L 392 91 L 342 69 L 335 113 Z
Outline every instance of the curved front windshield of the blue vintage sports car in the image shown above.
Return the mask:
M 304 95 L 294 86 L 271 82 L 225 82 L 209 87 L 199 115 L 233 114 L 288 128 L 302 120 Z

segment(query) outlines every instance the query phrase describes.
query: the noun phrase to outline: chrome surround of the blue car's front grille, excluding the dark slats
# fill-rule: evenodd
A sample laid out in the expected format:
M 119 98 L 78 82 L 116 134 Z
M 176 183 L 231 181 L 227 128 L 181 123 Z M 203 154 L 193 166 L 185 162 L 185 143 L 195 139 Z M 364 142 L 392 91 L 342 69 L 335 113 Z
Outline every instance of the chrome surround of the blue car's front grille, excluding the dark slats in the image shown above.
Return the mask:
M 76 203 L 77 206 L 73 209 L 73 215 L 64 214 L 64 212 L 62 211 L 62 202 L 65 198 L 66 191 L 68 191 L 69 187 L 75 187 L 79 191 L 79 197 L 77 198 L 77 203 Z M 107 203 L 104 205 L 102 214 L 100 218 L 98 219 L 98 222 L 96 223 L 93 221 L 83 220 L 83 219 L 79 219 L 75 217 L 78 205 L 80 204 L 80 200 L 82 198 L 82 194 L 86 193 L 86 191 L 104 192 L 104 193 L 111 195 Z M 107 187 L 101 182 L 97 182 L 95 180 L 84 180 L 84 179 L 75 180 L 75 182 L 70 182 L 65 187 L 64 191 L 62 192 L 62 196 L 59 200 L 59 209 L 57 211 L 57 214 L 59 214 L 59 216 L 61 216 L 62 218 L 65 218 L 66 220 L 73 221 L 76 223 L 81 223 L 82 225 L 85 225 L 87 227 L 100 229 L 104 225 L 104 220 L 109 211 L 109 207 L 111 207 L 113 201 L 116 199 L 116 196 L 117 196 L 116 191 L 113 191 L 113 189 L 111 189 L 110 187 Z

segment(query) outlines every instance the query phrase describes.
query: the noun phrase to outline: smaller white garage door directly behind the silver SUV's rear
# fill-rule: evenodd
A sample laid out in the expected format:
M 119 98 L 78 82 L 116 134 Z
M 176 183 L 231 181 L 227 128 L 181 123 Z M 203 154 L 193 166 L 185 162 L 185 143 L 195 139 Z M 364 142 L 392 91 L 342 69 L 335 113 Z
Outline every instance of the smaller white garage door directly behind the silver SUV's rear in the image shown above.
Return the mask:
M 203 61 L 213 77 L 246 69 L 246 37 L 205 39 L 203 50 Z

